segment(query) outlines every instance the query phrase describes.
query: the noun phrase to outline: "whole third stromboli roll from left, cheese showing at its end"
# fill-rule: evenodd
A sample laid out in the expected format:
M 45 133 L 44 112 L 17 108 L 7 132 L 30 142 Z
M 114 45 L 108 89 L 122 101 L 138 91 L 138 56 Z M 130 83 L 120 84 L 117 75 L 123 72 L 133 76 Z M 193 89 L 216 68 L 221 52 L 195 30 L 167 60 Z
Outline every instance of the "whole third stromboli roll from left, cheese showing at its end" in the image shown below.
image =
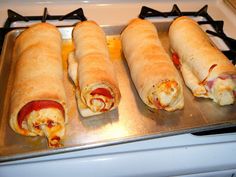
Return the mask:
M 134 19 L 122 32 L 121 40 L 132 80 L 142 101 L 154 109 L 182 109 L 182 82 L 160 42 L 156 27 L 147 20 Z

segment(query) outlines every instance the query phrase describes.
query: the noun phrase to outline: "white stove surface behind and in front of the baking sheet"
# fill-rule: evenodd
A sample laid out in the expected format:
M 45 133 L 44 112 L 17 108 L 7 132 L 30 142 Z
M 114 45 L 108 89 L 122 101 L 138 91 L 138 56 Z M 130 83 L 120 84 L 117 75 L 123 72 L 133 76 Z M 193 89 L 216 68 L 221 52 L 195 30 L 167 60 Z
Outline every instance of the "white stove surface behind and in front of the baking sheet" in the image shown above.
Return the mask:
M 170 11 L 197 11 L 208 4 L 225 33 L 236 38 L 236 14 L 221 0 L 182 1 L 1 1 L 0 26 L 7 9 L 22 15 L 67 14 L 82 7 L 100 25 L 122 25 L 137 17 L 141 6 Z M 112 14 L 112 15 L 108 15 Z M 0 177 L 10 176 L 219 176 L 236 174 L 236 133 L 195 136 L 183 134 L 0 164 Z

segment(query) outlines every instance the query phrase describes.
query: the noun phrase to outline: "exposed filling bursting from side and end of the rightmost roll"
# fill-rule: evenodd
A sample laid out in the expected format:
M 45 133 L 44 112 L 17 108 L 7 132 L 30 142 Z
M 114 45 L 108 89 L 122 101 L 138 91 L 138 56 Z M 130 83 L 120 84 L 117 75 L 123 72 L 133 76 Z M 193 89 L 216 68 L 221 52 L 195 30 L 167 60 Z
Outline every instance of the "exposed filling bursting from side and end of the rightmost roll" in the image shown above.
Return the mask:
M 172 60 L 176 67 L 181 69 L 186 85 L 192 90 L 194 96 L 209 97 L 219 105 L 233 104 L 236 97 L 236 75 L 224 74 L 215 79 L 209 76 L 217 64 L 213 64 L 208 69 L 207 76 L 202 80 L 192 73 L 191 69 L 184 63 L 181 63 L 176 52 L 172 54 Z

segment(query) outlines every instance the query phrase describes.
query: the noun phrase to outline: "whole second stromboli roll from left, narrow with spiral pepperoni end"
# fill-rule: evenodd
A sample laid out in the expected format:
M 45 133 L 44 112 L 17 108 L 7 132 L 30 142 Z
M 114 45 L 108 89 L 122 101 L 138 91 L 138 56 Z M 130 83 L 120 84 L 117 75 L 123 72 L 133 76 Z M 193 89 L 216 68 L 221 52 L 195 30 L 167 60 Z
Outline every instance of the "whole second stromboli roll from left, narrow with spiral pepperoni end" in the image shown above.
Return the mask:
M 69 75 L 76 85 L 81 115 L 87 117 L 116 108 L 120 91 L 105 33 L 93 21 L 79 22 L 73 29 L 73 42 L 75 52 L 69 56 Z

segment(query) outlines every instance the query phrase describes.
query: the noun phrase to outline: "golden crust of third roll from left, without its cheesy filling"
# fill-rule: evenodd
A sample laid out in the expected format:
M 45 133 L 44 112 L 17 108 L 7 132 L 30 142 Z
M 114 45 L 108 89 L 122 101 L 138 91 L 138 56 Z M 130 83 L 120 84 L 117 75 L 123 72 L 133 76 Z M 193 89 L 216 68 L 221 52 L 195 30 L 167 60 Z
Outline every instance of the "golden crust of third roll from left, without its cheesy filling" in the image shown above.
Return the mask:
M 134 19 L 121 34 L 122 47 L 132 80 L 143 102 L 156 108 L 148 100 L 152 87 L 164 81 L 176 81 L 180 90 L 179 103 L 166 107 L 183 107 L 183 90 L 179 74 L 158 37 L 155 26 L 147 20 Z M 181 105 L 181 106 L 179 106 Z

